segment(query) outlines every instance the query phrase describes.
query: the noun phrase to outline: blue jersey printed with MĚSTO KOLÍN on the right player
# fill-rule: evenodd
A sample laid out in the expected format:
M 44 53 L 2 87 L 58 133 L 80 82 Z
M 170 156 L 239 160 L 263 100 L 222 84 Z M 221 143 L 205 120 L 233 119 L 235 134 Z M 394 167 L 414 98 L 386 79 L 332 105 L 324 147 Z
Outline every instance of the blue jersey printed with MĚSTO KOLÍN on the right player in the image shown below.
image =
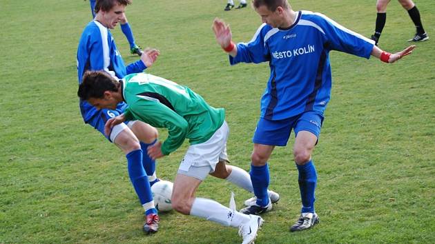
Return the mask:
M 374 41 L 323 14 L 299 11 L 289 28 L 263 23 L 249 43 L 237 44 L 237 55 L 229 60 L 231 65 L 269 61 L 261 117 L 280 120 L 307 111 L 323 114 L 331 94 L 329 51 L 369 59 L 373 46 Z

